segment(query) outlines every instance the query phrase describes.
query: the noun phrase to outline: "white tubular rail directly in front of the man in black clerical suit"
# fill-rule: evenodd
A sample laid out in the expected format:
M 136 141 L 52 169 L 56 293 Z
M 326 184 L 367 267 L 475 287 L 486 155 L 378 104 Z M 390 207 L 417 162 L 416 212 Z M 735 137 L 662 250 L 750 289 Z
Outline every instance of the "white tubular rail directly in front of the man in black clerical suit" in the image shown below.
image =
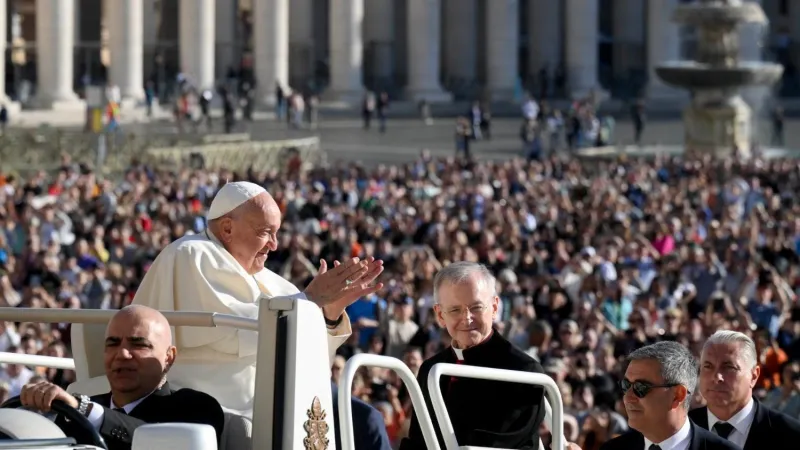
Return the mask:
M 444 404 L 442 389 L 439 386 L 439 379 L 444 375 L 542 386 L 547 396 L 553 401 L 553 409 L 550 413 L 549 420 L 546 417 L 546 423 L 550 425 L 550 434 L 553 438 L 551 448 L 558 450 L 566 448 L 565 445 L 567 441 L 564 439 L 563 419 L 564 405 L 561 402 L 561 394 L 558 392 L 556 382 L 549 376 L 542 373 L 438 363 L 431 368 L 428 374 L 428 392 L 431 396 L 431 403 L 433 404 L 433 411 L 436 413 L 436 419 L 439 421 L 439 427 L 442 429 L 442 437 L 444 438 L 446 450 L 458 450 L 460 447 L 458 445 L 458 440 L 456 440 L 456 432 L 453 428 L 453 423 L 450 421 L 450 416 L 447 414 L 447 407 Z M 550 409 L 547 398 L 544 398 L 544 404 L 545 416 L 547 416 L 547 411 Z M 416 413 L 416 408 L 414 412 Z M 539 447 L 543 448 L 541 441 Z

